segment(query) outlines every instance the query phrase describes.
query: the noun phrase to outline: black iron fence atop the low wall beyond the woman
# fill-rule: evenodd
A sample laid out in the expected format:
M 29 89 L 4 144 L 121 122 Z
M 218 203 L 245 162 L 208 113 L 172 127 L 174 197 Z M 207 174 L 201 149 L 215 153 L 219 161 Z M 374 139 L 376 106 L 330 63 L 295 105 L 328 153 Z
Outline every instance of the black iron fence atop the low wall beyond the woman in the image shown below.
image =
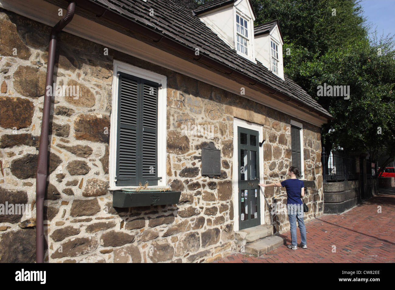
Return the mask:
M 356 160 L 343 151 L 331 151 L 329 155 L 322 150 L 322 169 L 324 181 L 357 179 Z

